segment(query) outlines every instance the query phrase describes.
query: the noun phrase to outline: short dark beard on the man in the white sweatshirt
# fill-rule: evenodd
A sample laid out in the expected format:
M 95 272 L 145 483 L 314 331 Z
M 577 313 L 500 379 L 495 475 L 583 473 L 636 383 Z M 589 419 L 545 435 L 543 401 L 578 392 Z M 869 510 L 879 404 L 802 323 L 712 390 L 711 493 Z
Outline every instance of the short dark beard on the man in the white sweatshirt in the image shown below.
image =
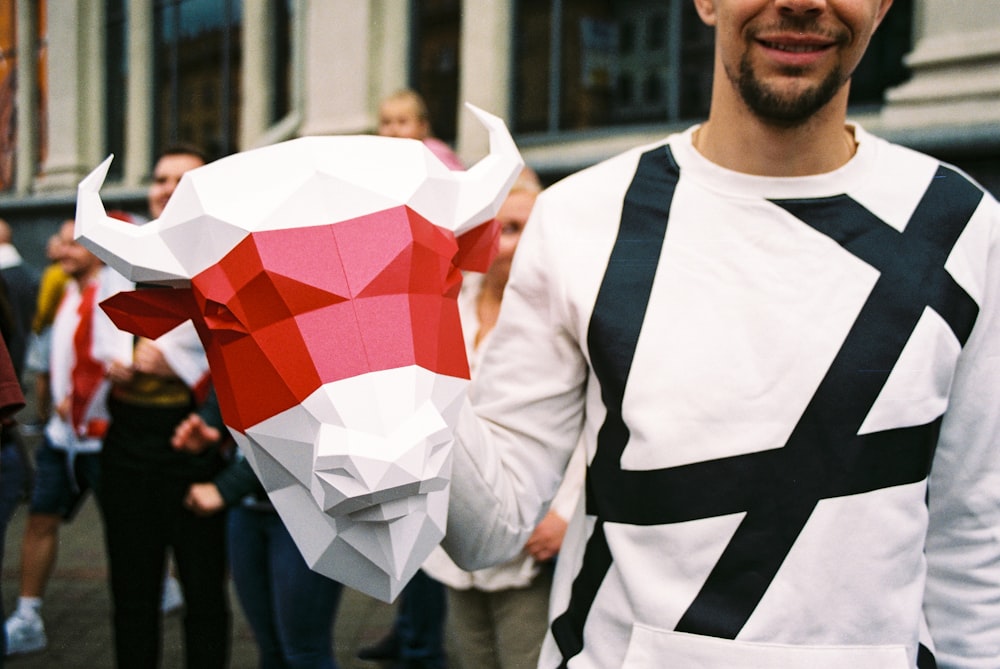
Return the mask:
M 727 70 L 728 71 L 728 70 Z M 801 74 L 798 68 L 789 68 L 785 74 Z M 729 79 L 736 86 L 743 102 L 764 121 L 783 127 L 802 125 L 813 114 L 833 99 L 847 82 L 840 67 L 834 68 L 819 84 L 801 91 L 782 92 L 768 87 L 757 78 L 749 56 L 740 60 L 739 72 L 729 72 Z

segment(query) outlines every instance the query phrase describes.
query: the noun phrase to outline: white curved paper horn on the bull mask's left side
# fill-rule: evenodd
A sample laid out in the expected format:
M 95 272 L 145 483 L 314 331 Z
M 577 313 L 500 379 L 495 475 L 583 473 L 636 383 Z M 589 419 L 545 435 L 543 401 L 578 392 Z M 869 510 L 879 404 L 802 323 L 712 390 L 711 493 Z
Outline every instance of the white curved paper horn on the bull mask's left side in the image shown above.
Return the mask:
M 99 190 L 113 158 L 108 156 L 80 182 L 76 200 L 77 239 L 131 281 L 188 285 L 190 277 L 160 234 L 162 218 L 133 225 L 111 218 L 105 211 Z

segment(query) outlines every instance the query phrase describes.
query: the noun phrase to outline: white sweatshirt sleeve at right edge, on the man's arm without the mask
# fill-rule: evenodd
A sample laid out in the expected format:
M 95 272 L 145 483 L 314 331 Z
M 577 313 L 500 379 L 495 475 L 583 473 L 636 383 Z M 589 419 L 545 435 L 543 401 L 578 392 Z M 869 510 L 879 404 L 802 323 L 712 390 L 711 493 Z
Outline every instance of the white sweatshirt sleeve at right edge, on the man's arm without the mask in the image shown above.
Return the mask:
M 924 612 L 942 669 L 1000 662 L 1000 207 L 994 200 L 984 199 L 970 232 L 981 233 L 990 265 L 969 287 L 980 311 L 960 355 L 928 492 Z

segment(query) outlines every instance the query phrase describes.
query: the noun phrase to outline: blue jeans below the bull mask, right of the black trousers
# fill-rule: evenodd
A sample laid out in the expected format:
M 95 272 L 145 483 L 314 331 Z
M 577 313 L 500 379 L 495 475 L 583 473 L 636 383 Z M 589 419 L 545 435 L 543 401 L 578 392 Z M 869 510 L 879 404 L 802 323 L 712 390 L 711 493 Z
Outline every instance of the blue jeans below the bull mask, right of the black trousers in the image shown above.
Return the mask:
M 335 669 L 333 624 L 343 586 L 309 569 L 278 514 L 231 508 L 229 555 L 261 669 Z

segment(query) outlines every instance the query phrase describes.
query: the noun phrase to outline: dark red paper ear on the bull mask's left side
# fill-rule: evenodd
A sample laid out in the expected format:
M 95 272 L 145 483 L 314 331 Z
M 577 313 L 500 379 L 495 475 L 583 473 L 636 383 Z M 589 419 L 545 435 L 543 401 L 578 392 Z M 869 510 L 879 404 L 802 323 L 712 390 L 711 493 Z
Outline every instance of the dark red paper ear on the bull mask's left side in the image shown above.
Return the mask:
M 101 309 L 125 332 L 156 339 L 198 313 L 190 288 L 142 288 L 112 295 Z

